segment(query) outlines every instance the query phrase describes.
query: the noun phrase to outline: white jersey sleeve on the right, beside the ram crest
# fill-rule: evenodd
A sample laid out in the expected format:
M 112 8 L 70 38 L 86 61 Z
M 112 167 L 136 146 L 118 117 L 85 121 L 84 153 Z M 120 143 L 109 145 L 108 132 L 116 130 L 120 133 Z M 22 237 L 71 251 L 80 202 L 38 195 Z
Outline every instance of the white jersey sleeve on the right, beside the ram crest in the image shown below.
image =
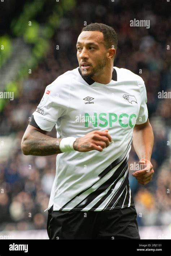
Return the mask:
M 141 105 L 139 110 L 139 115 L 136 120 L 136 125 L 141 125 L 148 120 L 148 109 L 147 109 L 147 94 L 146 88 L 143 80 L 137 81 L 140 87 L 140 97 L 141 97 Z

